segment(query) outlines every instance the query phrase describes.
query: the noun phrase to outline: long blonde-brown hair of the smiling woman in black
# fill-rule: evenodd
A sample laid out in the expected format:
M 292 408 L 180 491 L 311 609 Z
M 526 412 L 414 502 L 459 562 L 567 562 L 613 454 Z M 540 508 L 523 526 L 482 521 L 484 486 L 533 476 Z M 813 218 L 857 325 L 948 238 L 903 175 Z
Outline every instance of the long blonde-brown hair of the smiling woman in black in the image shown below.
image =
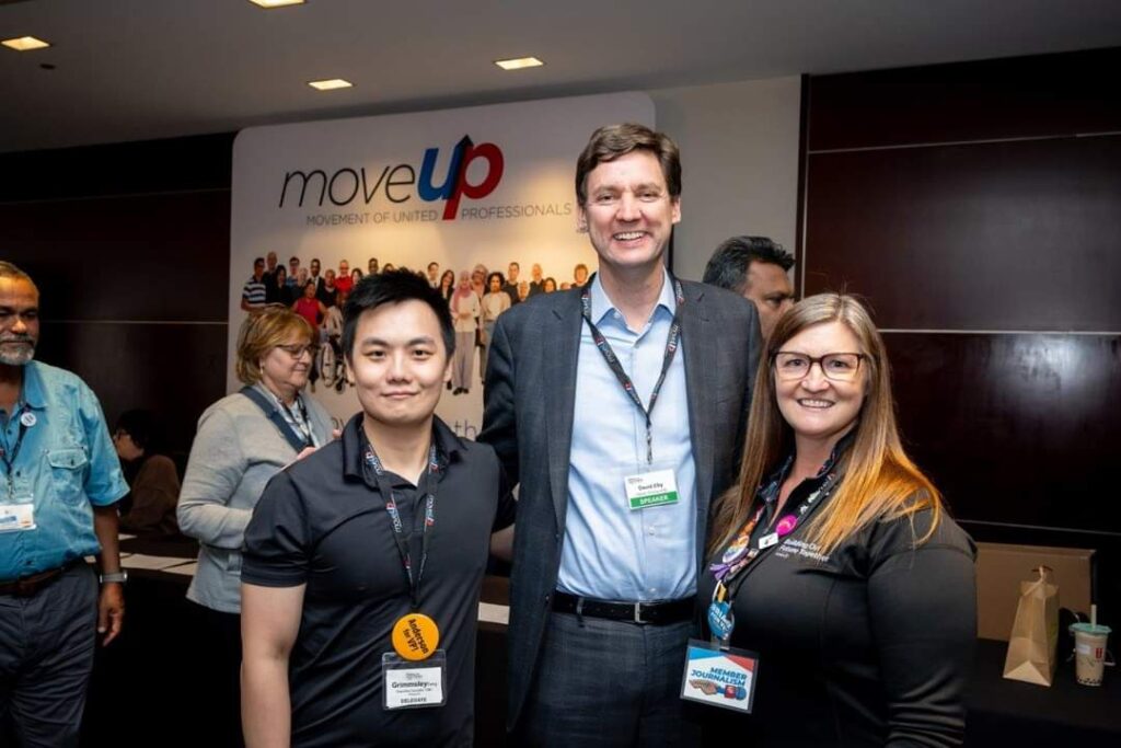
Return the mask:
M 827 555 L 853 533 L 879 519 L 910 517 L 929 509 L 930 527 L 915 544 L 925 543 L 942 519 L 942 498 L 934 483 L 904 452 L 896 426 L 891 376 L 883 339 L 868 310 L 847 294 L 818 294 L 805 298 L 779 317 L 759 361 L 748 434 L 736 484 L 720 500 L 708 534 L 708 553 L 724 546 L 754 511 L 766 471 L 791 449 L 794 432 L 782 417 L 775 396 L 771 361 L 791 338 L 814 325 L 840 322 L 860 341 L 867 391 L 852 445 L 844 455 L 844 479 L 828 509 L 818 512 L 807 529 L 807 541 Z

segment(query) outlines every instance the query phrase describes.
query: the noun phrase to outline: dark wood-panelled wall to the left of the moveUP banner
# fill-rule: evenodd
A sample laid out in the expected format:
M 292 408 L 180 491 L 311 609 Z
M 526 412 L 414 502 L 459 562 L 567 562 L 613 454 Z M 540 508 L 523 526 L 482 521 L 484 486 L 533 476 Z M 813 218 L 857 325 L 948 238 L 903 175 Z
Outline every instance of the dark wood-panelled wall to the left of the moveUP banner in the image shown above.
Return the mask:
M 110 423 L 155 410 L 173 452 L 225 394 L 233 137 L 0 154 L 0 258 L 39 286 L 38 358 Z

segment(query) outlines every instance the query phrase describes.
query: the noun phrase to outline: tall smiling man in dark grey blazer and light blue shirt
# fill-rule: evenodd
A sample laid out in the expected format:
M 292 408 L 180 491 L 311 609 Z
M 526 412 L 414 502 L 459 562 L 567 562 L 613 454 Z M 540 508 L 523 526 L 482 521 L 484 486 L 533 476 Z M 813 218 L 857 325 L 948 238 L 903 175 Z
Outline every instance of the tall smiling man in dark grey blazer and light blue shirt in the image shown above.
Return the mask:
M 497 323 L 480 441 L 520 482 L 508 728 L 519 745 L 689 745 L 679 678 L 712 502 L 735 479 L 754 307 L 678 281 L 680 161 L 639 124 L 576 166 L 583 288 Z

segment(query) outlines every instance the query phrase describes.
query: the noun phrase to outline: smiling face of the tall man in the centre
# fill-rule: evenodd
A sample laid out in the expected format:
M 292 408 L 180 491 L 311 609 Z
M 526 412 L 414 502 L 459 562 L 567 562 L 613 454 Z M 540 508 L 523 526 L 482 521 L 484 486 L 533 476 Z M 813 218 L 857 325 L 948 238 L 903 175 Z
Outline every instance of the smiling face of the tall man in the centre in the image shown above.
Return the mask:
M 601 271 L 656 267 L 682 220 L 680 201 L 669 196 L 658 158 L 633 150 L 604 161 L 589 173 L 585 187 L 581 228 L 600 256 Z

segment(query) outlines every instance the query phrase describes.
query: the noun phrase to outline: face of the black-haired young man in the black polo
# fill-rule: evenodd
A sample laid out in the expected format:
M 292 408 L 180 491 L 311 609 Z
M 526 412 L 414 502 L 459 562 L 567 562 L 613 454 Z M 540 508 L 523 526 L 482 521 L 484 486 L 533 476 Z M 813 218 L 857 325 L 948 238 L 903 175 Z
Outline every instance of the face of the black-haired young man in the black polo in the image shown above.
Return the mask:
M 429 423 L 444 382 L 452 379 L 436 313 L 417 299 L 367 310 L 358 320 L 346 370 L 368 423 Z

